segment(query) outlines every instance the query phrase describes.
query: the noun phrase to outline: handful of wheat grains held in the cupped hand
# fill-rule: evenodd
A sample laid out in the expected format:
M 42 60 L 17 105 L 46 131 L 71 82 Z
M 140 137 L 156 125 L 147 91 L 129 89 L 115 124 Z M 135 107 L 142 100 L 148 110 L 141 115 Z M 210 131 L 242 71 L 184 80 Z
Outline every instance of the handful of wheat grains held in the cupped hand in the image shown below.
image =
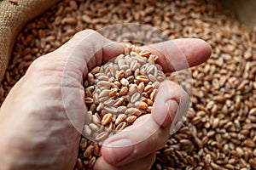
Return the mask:
M 93 167 L 102 142 L 151 113 L 165 74 L 158 57 L 134 45 L 113 61 L 96 66 L 84 82 L 84 103 L 89 108 L 80 141 L 76 169 Z

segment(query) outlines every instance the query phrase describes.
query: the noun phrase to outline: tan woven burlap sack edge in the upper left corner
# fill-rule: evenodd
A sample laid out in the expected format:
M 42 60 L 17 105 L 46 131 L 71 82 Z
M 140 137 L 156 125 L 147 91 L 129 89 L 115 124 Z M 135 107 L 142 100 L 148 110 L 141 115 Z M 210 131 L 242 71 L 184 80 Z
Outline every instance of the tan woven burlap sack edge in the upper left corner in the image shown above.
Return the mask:
M 15 37 L 22 26 L 59 0 L 0 0 L 0 82 L 8 66 Z

